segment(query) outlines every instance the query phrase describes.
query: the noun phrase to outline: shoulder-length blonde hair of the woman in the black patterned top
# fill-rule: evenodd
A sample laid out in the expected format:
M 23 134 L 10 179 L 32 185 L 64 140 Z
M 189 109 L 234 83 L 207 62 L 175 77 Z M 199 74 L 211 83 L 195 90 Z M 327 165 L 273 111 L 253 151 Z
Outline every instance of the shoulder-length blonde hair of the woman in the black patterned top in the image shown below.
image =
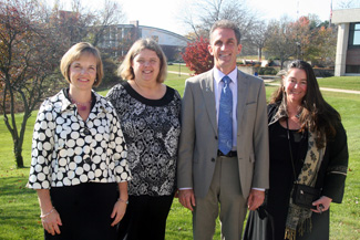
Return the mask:
M 135 73 L 132 66 L 135 56 L 144 49 L 152 50 L 160 59 L 160 72 L 156 77 L 156 82 L 163 83 L 167 74 L 166 56 L 161 46 L 152 39 L 140 39 L 128 50 L 124 61 L 119 66 L 117 73 L 123 80 L 134 80 Z

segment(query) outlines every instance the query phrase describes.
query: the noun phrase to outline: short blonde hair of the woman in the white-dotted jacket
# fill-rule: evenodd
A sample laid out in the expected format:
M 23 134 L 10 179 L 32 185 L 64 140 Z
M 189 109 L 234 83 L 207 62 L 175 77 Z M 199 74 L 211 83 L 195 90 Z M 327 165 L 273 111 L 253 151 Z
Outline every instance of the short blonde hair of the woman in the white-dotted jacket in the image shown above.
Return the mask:
M 79 42 L 71 46 L 61 59 L 60 71 L 68 83 L 71 83 L 69 76 L 70 65 L 84 54 L 92 54 L 96 59 L 96 80 L 93 86 L 99 86 L 104 76 L 103 62 L 101 61 L 100 51 L 89 42 Z

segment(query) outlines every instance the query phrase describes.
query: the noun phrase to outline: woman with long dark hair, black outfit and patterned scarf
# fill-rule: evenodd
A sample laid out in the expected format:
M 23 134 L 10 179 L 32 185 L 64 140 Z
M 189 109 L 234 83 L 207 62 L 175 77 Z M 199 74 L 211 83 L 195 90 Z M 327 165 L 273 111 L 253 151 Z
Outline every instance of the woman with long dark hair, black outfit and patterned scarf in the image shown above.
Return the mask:
M 270 188 L 244 239 L 328 240 L 330 204 L 344 190 L 347 135 L 307 62 L 289 64 L 268 105 L 268 127 Z

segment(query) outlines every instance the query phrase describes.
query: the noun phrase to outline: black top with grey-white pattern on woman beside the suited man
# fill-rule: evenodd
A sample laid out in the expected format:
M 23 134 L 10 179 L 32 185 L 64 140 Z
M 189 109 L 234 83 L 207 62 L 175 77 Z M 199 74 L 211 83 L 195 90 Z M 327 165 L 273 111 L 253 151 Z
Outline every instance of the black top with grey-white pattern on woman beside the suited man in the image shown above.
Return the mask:
M 107 100 L 114 105 L 127 145 L 133 196 L 168 196 L 175 190 L 181 96 L 166 87 L 161 100 L 140 95 L 127 82 L 115 85 Z

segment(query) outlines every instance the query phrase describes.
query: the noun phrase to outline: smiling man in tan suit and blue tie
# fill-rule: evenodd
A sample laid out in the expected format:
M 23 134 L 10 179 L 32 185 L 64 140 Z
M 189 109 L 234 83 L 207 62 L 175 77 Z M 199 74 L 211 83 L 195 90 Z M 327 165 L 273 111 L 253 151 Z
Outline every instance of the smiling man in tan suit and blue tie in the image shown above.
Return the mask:
M 241 44 L 234 22 L 222 20 L 213 25 L 208 51 L 214 69 L 188 79 L 185 85 L 178 199 L 193 211 L 195 240 L 213 239 L 218 215 L 222 239 L 235 240 L 241 238 L 246 207 L 257 209 L 269 186 L 265 85 L 236 67 Z M 228 93 L 230 101 L 222 102 L 223 92 L 224 101 Z M 223 106 L 230 111 L 222 112 Z M 224 142 L 225 135 L 229 136 Z

